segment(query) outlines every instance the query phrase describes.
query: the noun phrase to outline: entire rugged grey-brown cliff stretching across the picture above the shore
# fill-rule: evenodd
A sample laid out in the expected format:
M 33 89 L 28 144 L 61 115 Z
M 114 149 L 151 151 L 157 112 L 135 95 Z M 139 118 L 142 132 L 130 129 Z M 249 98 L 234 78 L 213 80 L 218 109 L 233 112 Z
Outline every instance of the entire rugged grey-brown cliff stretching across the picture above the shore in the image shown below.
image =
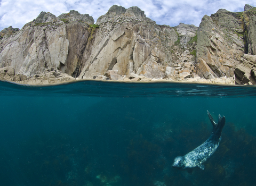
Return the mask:
M 0 32 L 0 77 L 225 82 L 235 75 L 237 84 L 255 84 L 256 8 L 244 10 L 220 9 L 199 28 L 158 25 L 138 7 L 114 5 L 95 24 L 77 11 L 41 12 L 21 30 Z

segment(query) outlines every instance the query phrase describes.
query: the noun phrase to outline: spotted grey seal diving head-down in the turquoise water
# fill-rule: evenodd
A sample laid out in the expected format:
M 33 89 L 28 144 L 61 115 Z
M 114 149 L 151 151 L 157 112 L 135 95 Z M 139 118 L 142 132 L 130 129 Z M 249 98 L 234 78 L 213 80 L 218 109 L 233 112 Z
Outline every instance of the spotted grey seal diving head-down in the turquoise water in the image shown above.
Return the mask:
M 204 163 L 209 159 L 215 150 L 218 148 L 221 140 L 221 132 L 225 125 L 226 119 L 225 116 L 219 115 L 218 124 L 214 122 L 211 114 L 207 111 L 209 119 L 213 125 L 213 130 L 211 136 L 199 147 L 192 150 L 190 153 L 185 156 L 177 156 L 174 159 L 172 164 L 175 168 L 193 168 L 199 167 L 204 170 Z

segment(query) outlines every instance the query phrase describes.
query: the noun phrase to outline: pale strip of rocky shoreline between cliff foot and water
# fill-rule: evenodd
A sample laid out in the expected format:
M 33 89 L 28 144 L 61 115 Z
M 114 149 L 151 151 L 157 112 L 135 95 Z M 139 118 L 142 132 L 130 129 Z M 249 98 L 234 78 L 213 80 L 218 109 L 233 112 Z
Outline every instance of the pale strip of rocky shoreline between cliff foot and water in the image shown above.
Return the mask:
M 221 77 L 204 79 L 196 74 L 187 77 L 177 75 L 165 75 L 164 78 L 147 78 L 144 75 L 130 73 L 128 75 L 119 75 L 116 71 L 107 71 L 105 75 L 91 74 L 90 77 L 73 78 L 70 75 L 61 72 L 60 70 L 46 70 L 42 74 L 36 74 L 33 77 L 27 77 L 23 74 L 15 74 L 13 67 L 4 67 L 0 69 L 0 80 L 10 81 L 18 84 L 43 86 L 56 85 L 62 83 L 73 83 L 77 81 L 111 81 L 111 82 L 175 82 L 175 83 L 198 83 L 198 84 L 216 84 L 216 85 L 231 85 L 234 86 L 235 77 Z M 250 84 L 251 85 L 251 84 Z

